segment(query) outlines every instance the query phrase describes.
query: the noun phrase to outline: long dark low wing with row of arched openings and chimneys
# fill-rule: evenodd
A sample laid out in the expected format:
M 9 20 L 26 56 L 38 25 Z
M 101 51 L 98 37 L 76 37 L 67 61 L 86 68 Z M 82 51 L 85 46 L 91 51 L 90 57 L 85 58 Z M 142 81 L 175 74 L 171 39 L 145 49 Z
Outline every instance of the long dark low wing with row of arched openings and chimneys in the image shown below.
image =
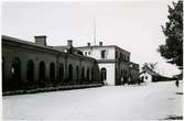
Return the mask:
M 53 85 L 100 84 L 96 59 L 73 47 L 67 52 L 46 45 L 46 36 L 35 36 L 35 43 L 2 35 L 2 89 L 46 87 Z

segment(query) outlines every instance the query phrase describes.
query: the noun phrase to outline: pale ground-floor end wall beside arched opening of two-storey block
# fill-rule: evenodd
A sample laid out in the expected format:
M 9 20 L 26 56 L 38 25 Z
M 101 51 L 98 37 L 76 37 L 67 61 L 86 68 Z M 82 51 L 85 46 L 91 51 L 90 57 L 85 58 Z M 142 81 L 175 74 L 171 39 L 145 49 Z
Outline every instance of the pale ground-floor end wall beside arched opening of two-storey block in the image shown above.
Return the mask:
M 99 64 L 99 69 L 105 67 L 107 70 L 107 84 L 115 86 L 115 64 Z

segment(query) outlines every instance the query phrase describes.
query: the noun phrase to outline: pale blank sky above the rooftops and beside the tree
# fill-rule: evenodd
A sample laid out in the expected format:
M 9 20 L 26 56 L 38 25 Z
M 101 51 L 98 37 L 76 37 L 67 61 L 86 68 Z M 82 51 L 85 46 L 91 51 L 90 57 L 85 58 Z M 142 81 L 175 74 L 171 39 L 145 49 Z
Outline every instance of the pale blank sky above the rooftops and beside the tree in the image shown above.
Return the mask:
M 34 42 L 35 35 L 46 35 L 47 45 L 74 46 L 94 43 L 118 45 L 131 53 L 131 62 L 156 63 L 158 72 L 165 76 L 180 70 L 158 53 L 165 36 L 161 25 L 167 21 L 169 1 L 106 1 L 106 2 L 2 2 L 1 33 Z

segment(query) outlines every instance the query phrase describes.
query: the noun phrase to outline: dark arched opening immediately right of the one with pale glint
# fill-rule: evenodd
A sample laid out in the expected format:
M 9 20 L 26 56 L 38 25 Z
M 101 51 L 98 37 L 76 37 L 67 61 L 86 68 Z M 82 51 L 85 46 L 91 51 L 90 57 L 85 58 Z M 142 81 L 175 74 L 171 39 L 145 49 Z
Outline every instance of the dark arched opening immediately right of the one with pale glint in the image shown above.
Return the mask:
M 34 81 L 34 63 L 33 63 L 33 61 L 29 61 L 26 63 L 26 80 L 29 80 L 29 82 Z

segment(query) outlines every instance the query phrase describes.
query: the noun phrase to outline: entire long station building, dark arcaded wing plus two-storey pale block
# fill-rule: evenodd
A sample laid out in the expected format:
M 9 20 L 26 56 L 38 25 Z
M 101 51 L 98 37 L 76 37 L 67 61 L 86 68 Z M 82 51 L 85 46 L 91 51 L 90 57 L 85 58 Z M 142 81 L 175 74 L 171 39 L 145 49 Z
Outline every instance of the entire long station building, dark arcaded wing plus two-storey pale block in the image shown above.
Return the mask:
M 130 62 L 130 52 L 116 45 L 74 47 L 48 46 L 46 36 L 28 42 L 2 35 L 2 90 L 44 87 L 80 88 L 133 84 L 139 65 Z

